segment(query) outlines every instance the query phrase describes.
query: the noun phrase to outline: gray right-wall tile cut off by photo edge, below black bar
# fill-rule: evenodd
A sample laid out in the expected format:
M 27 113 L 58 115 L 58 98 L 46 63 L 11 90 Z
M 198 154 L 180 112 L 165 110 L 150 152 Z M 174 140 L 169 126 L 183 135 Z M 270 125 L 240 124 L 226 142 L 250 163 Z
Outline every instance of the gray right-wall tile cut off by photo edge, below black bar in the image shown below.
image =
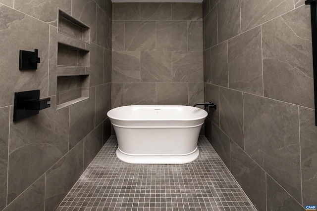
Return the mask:
M 317 127 L 315 112 L 299 107 L 303 205 L 317 204 Z

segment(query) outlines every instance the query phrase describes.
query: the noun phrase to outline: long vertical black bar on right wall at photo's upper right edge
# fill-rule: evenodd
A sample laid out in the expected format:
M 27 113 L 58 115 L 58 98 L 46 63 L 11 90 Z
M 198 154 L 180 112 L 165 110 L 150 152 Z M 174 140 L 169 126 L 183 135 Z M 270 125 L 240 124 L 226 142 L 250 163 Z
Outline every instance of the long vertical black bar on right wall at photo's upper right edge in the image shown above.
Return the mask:
M 311 5 L 314 92 L 315 92 L 315 125 L 317 126 L 317 0 L 306 0 L 305 4 Z

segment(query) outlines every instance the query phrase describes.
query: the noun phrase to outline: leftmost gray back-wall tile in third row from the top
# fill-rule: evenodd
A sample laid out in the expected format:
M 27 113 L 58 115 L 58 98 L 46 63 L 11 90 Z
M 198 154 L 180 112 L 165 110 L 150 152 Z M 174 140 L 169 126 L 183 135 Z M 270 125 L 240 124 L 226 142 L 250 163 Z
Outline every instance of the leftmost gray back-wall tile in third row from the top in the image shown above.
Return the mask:
M 140 52 L 112 52 L 112 82 L 140 81 Z

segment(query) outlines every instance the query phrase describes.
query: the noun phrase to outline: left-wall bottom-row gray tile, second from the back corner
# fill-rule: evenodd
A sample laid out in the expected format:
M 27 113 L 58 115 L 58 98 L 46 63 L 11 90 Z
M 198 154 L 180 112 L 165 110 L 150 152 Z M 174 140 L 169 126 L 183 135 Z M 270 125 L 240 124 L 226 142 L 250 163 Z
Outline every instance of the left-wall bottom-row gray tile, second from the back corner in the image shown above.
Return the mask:
M 95 156 L 102 147 L 103 124 L 100 124 L 84 139 L 84 169 L 86 169 L 92 160 L 94 160 Z

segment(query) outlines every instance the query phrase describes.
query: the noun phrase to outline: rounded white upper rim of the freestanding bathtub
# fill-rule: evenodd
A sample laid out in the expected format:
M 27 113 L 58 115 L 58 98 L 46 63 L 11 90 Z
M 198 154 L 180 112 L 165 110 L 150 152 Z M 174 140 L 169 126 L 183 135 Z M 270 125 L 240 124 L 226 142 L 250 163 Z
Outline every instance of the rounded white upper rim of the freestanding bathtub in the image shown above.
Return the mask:
M 109 119 L 113 119 L 113 120 L 119 120 L 119 121 L 128 121 L 128 122 L 131 122 L 131 121 L 149 121 L 149 122 L 162 122 L 162 121 L 180 121 L 180 122 L 185 122 L 185 121 L 196 121 L 196 120 L 202 120 L 202 119 L 205 119 L 207 116 L 208 116 L 208 112 L 205 111 L 204 109 L 201 109 L 205 112 L 205 114 L 199 118 L 192 118 L 192 119 L 121 119 L 121 118 L 116 118 L 116 117 L 113 117 L 112 115 L 109 116 L 109 113 L 110 111 L 113 112 L 114 109 L 117 109 L 117 108 L 122 108 L 122 107 L 191 107 L 193 108 L 194 110 L 197 110 L 197 109 L 201 109 L 201 108 L 198 108 L 198 107 L 193 107 L 193 106 L 185 106 L 185 105 L 127 105 L 127 106 L 119 106 L 119 107 L 116 107 L 116 108 L 112 108 L 110 109 L 108 112 L 107 112 L 107 117 Z

